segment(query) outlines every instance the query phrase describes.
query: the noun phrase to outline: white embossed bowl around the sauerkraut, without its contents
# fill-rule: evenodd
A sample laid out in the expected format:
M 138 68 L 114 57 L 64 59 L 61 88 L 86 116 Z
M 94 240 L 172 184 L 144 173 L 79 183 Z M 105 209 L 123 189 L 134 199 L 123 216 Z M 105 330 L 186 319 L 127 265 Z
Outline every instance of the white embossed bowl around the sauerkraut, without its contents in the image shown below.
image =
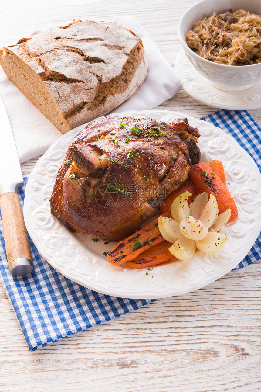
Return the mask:
M 214 87 L 224 91 L 242 91 L 252 87 L 261 80 L 261 63 L 252 65 L 218 64 L 194 53 L 185 41 L 185 33 L 198 20 L 211 16 L 213 13 L 224 13 L 229 9 L 237 11 L 245 9 L 250 13 L 261 15 L 261 0 L 203 0 L 189 8 L 182 16 L 178 35 L 185 54 L 195 69 Z

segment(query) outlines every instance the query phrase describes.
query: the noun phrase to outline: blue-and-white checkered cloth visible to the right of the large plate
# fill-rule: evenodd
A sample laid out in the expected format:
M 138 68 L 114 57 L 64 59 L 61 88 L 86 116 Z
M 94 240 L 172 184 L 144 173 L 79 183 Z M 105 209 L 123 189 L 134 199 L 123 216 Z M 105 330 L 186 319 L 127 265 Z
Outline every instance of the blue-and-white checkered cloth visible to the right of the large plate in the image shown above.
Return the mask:
M 216 127 L 222 128 L 233 136 L 236 141 L 248 152 L 261 171 L 261 129 L 247 111 L 220 110 L 203 117 Z M 257 237 L 247 256 L 234 268 L 243 268 L 261 258 L 261 234 Z

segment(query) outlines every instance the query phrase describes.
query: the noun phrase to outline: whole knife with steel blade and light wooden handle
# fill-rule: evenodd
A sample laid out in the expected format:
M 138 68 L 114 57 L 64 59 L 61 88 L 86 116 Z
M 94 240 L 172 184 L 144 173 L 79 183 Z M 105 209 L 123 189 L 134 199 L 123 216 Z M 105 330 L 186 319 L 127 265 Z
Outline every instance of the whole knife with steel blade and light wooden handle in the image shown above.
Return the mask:
M 29 240 L 17 190 L 23 176 L 14 136 L 4 103 L 0 98 L 0 209 L 9 270 L 13 276 L 31 274 L 33 270 Z

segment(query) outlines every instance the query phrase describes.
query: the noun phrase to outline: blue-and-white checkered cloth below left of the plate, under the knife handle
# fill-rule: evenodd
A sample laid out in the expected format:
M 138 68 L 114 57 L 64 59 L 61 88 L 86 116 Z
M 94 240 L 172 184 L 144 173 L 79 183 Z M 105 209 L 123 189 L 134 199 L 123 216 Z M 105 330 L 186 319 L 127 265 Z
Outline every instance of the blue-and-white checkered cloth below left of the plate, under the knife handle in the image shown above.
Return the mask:
M 28 178 L 24 178 L 25 183 Z M 18 191 L 23 208 L 25 185 Z M 0 281 L 13 307 L 29 350 L 35 351 L 75 332 L 137 310 L 156 299 L 110 297 L 65 278 L 45 261 L 29 238 L 34 271 L 12 277 L 0 221 Z

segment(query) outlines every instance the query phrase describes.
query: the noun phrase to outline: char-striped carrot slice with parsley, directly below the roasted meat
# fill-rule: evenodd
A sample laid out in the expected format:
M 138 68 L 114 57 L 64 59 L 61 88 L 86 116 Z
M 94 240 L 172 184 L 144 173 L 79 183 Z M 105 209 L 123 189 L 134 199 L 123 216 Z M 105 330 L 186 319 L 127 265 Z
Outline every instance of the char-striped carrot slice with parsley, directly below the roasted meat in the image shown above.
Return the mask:
M 166 212 L 164 215 L 170 215 Z M 125 238 L 108 253 L 107 260 L 111 264 L 122 264 L 135 259 L 140 253 L 164 241 L 158 229 L 158 218 Z

